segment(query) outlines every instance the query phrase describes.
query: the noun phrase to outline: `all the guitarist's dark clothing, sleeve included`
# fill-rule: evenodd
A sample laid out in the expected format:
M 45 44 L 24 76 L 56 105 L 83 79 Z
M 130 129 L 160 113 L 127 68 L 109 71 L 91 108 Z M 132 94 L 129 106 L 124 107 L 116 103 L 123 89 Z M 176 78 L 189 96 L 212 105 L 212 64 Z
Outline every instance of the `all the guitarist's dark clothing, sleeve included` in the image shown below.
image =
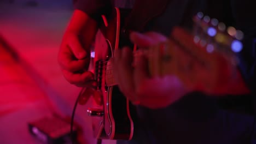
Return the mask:
M 198 11 L 228 26 L 235 26 L 245 33 L 244 49 L 238 53 L 241 60 L 239 68 L 248 87 L 254 91 L 255 5 L 256 1 L 249 0 L 137 0 L 127 22 L 127 29 L 140 32 L 156 31 L 168 36 L 173 26 L 190 29 L 191 17 Z M 77 9 L 85 11 L 95 20 L 99 20 L 101 14 L 110 14 L 113 7 L 114 2 L 110 0 L 77 2 Z M 256 106 L 252 95 L 217 99 L 195 92 L 185 95 L 166 109 L 150 110 L 138 106 L 139 120 L 135 122 L 134 140 L 127 143 L 251 143 L 256 138 L 253 135 L 254 117 L 245 113 L 252 114 L 252 106 Z

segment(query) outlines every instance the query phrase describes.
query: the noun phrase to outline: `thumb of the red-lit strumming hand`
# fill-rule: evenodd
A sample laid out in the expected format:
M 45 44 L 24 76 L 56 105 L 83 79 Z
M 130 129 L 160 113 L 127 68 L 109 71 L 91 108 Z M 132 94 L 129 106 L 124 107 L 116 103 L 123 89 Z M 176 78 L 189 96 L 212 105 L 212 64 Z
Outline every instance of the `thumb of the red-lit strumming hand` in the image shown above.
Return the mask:
M 85 57 L 90 57 L 90 53 L 86 52 L 76 35 L 72 35 L 69 37 L 68 46 L 71 48 L 74 56 L 77 59 L 84 59 Z

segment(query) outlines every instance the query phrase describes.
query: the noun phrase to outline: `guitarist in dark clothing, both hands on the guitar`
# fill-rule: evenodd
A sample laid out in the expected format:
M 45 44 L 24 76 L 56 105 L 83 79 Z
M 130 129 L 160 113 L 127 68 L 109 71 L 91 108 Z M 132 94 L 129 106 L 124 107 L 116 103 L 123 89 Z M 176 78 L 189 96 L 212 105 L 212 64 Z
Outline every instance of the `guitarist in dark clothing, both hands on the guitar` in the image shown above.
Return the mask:
M 127 47 L 115 51 L 116 80 L 125 97 L 137 105 L 139 114 L 133 139 L 118 143 L 253 143 L 255 119 L 246 113 L 252 114 L 250 95 L 256 88 L 256 54 L 252 45 L 256 35 L 255 4 L 249 0 L 136 0 L 124 32 L 144 33 L 130 34 L 131 41 L 138 47 L 165 41 L 173 26 L 191 28 L 191 17 L 197 11 L 204 11 L 227 25 L 241 29 L 245 34 L 245 48 L 239 53 L 241 64 L 237 69 L 237 80 L 226 83 L 225 91 L 216 91 L 211 96 L 187 89 L 175 75 L 162 79 L 149 77 L 144 57 L 139 57 L 132 68 L 132 51 Z M 59 52 L 63 75 L 73 85 L 91 85 L 94 76 L 84 67 L 90 61 L 89 46 L 101 15 L 108 15 L 113 7 L 114 2 L 110 0 L 77 1 Z M 85 35 L 82 34 L 84 32 Z M 224 106 L 239 108 L 240 114 L 218 106 L 215 102 L 219 97 L 214 96 L 220 94 L 232 95 L 222 96 L 228 101 L 238 99 L 239 103 Z

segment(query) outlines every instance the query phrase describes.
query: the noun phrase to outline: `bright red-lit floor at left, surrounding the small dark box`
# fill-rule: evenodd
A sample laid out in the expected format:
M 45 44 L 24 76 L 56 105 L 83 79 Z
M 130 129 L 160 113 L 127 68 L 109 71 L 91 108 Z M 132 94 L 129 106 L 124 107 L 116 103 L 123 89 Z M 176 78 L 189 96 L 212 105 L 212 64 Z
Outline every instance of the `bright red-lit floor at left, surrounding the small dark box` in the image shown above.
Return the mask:
M 52 112 L 71 116 L 80 88 L 62 76 L 57 52 L 72 8 L 57 2 L 50 7 L 0 3 L 0 38 L 7 44 L 0 43 L 0 143 L 38 143 L 27 122 Z M 83 128 L 84 143 L 93 144 L 87 107 L 77 107 L 75 121 Z

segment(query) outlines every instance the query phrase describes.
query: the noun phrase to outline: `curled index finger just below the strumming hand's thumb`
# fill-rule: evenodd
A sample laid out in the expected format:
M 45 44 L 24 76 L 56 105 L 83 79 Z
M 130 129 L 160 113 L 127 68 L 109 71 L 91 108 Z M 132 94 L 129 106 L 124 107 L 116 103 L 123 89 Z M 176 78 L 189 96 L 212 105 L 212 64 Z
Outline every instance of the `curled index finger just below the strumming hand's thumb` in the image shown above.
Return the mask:
M 62 69 L 68 71 L 80 71 L 83 69 L 87 69 L 90 63 L 90 57 L 85 59 L 75 59 L 72 52 L 68 49 L 68 47 L 62 48 L 59 52 L 58 62 Z

